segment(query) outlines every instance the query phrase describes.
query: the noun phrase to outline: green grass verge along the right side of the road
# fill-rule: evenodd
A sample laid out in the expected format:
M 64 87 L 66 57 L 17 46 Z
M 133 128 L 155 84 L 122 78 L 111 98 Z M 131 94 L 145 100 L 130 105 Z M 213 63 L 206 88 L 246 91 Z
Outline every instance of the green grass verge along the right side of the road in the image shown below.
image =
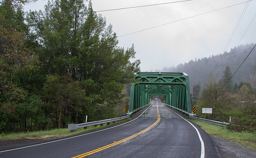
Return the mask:
M 207 122 L 202 122 L 200 120 L 190 119 L 191 122 L 194 122 L 200 126 L 208 134 L 217 135 L 220 138 L 226 140 L 232 140 L 238 142 L 242 146 L 249 147 L 252 150 L 256 150 L 256 135 L 248 132 L 234 132 L 228 130 L 226 127 L 218 126 L 215 124 L 210 124 Z

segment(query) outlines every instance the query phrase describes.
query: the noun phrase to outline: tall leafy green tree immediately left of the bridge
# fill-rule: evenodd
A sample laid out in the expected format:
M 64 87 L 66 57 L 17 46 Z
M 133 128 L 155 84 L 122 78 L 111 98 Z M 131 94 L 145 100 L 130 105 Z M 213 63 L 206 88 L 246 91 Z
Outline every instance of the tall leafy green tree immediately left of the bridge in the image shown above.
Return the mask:
M 42 16 L 48 18 L 38 19 Z M 80 122 L 86 115 L 91 121 L 113 117 L 115 105 L 125 96 L 124 85 L 140 71 L 140 61 L 130 61 L 135 57 L 134 45 L 126 50 L 118 47 L 112 26 L 106 26 L 106 20 L 92 10 L 92 3 L 86 6 L 84 0 L 52 0 L 45 12 L 30 12 L 28 18 L 39 43 L 36 50 L 42 71 L 48 76 L 44 101 L 58 127 L 60 122 L 64 124 L 60 120 L 64 115 L 72 122 Z M 82 100 L 87 102 L 75 102 L 68 91 L 58 95 L 59 86 L 76 81 L 85 92 Z M 62 104 L 62 98 L 70 103 Z

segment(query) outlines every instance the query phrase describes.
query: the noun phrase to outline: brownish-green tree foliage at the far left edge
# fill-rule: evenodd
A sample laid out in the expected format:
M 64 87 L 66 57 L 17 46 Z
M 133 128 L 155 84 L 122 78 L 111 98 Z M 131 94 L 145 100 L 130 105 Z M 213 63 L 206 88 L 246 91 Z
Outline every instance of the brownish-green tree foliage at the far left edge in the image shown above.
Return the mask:
M 38 64 L 37 55 L 24 44 L 28 27 L 23 22 L 23 3 L 4 0 L 0 6 L 1 132 L 21 130 L 19 109 L 28 102 L 28 91 L 22 85 L 21 78 Z

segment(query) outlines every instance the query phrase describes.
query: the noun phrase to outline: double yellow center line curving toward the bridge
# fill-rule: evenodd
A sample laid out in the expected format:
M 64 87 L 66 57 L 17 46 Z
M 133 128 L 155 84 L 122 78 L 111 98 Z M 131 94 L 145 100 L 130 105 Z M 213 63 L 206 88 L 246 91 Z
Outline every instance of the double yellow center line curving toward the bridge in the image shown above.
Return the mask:
M 85 157 L 85 156 L 88 156 L 88 155 L 90 155 L 90 154 L 94 154 L 94 153 L 99 152 L 99 151 L 101 151 L 101 150 L 104 150 L 104 149 L 106 149 L 106 148 L 110 148 L 111 146 L 115 146 L 115 145 L 120 144 L 120 143 L 122 143 L 122 142 L 126 142 L 127 140 L 129 140 L 129 139 L 131 139 L 131 138 L 134 138 L 134 137 L 136 137 L 136 136 L 138 136 L 138 135 L 140 135 L 140 134 L 142 134 L 142 133 L 148 131 L 150 128 L 152 128 L 153 126 L 155 126 L 155 125 L 160 121 L 160 113 L 159 113 L 157 101 L 156 101 L 156 106 L 157 106 L 156 109 L 157 109 L 157 117 L 158 117 L 158 119 L 156 120 L 156 122 L 154 122 L 154 124 L 152 124 L 152 125 L 149 126 L 148 128 L 146 128 L 146 129 L 144 129 L 144 130 L 142 130 L 142 131 L 140 131 L 140 132 L 138 132 L 138 133 L 136 133 L 136 134 L 134 134 L 134 135 L 132 135 L 132 136 L 129 136 L 128 138 L 119 140 L 118 142 L 114 142 L 114 143 L 109 144 L 109 145 L 107 145 L 107 146 L 103 146 L 103 147 L 98 148 L 98 149 L 96 149 L 96 150 L 92 150 L 92 151 L 90 151 L 90 152 L 86 152 L 86 153 L 84 153 L 84 154 L 75 156 L 75 157 L 73 157 L 73 158 L 83 158 L 83 157 Z

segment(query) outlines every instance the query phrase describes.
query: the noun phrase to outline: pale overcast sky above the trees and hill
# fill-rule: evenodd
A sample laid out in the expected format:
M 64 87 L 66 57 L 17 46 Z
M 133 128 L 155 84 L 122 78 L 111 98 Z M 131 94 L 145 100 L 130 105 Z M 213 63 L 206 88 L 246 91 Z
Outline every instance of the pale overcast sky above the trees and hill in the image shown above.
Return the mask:
M 182 0 L 92 0 L 92 7 L 94 11 L 101 11 L 177 1 Z M 177 66 L 195 58 L 223 53 L 246 8 L 242 21 L 225 51 L 229 52 L 236 45 L 256 43 L 256 18 L 252 21 L 256 14 L 256 0 L 239 4 L 247 1 L 191 0 L 98 14 L 105 17 L 107 23 L 113 26 L 119 46 L 127 48 L 134 43 L 136 59 L 141 61 L 141 71 L 155 71 L 162 70 L 163 67 Z M 44 4 L 46 1 L 43 0 L 28 4 L 25 11 L 43 10 Z M 235 4 L 239 5 L 233 6 Z

